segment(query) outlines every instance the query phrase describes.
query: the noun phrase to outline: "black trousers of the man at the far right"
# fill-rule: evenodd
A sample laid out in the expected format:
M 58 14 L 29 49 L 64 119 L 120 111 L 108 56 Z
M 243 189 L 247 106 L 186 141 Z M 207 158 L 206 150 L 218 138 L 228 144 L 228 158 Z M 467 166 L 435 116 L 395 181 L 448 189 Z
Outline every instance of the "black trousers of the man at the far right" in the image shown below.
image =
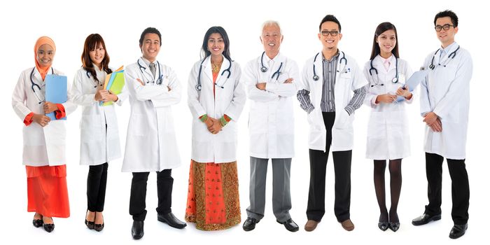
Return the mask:
M 442 162 L 444 158 L 433 153 L 426 153 L 427 195 L 429 204 L 426 214 L 441 214 Z M 446 159 L 451 176 L 451 196 L 453 207 L 451 216 L 455 225 L 468 223 L 470 207 L 470 184 L 466 172 L 465 160 Z

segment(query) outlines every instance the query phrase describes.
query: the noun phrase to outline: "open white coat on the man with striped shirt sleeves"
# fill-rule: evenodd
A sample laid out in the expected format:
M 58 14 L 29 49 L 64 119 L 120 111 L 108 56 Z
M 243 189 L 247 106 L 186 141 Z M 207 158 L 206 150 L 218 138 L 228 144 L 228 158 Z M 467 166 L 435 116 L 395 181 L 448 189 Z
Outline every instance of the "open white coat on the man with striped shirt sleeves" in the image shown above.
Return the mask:
M 337 75 L 335 76 L 335 121 L 332 127 L 331 151 L 350 151 L 353 147 L 353 119 L 354 113 L 349 116 L 345 107 L 352 99 L 353 90 L 367 84 L 367 80 L 359 69 L 356 60 L 339 50 L 337 61 Z M 340 61 L 342 60 L 342 64 Z M 313 80 L 313 64 L 315 64 L 318 80 Z M 309 148 L 317 151 L 326 151 L 327 132 L 323 115 L 321 113 L 321 94 L 323 90 L 323 57 L 320 52 L 314 63 L 314 56 L 304 64 L 302 72 L 302 88 L 309 91 L 311 104 L 314 110 L 308 114 Z

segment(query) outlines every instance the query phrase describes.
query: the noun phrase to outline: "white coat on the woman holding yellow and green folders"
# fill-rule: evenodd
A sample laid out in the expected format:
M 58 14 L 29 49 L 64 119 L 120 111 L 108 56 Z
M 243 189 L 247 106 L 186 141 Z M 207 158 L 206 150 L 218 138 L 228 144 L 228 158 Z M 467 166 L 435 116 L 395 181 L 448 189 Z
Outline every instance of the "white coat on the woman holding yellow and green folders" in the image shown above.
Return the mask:
M 83 106 L 80 120 L 80 165 L 101 165 L 121 157 L 118 118 L 114 105 L 99 106 L 95 93 L 102 89 L 107 73 L 95 67 L 99 84 L 87 71 L 80 68 L 71 87 L 73 103 Z M 127 92 L 118 94 L 116 104 L 121 106 Z

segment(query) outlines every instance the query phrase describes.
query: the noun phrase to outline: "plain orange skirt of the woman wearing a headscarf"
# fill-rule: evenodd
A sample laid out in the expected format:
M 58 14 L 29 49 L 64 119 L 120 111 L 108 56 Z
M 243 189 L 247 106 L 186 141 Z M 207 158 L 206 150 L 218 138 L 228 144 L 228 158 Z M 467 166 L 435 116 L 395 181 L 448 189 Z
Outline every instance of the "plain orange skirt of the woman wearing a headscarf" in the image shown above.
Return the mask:
M 66 165 L 25 167 L 27 211 L 42 216 L 68 218 L 70 204 L 66 188 Z

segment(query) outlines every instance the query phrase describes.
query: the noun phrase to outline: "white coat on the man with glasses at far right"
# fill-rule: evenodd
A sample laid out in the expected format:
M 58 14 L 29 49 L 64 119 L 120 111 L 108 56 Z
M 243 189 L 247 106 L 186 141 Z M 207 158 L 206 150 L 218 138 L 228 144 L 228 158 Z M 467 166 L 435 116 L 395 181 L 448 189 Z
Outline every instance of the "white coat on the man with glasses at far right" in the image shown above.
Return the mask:
M 428 70 L 428 76 L 420 87 L 421 116 L 432 111 L 439 116 L 442 132 L 433 132 L 426 126 L 424 151 L 444 158 L 462 160 L 466 158 L 466 136 L 468 113 L 470 109 L 470 80 L 472 59 L 470 52 L 459 48 L 454 59 L 449 60 L 451 52 L 458 48 L 457 43 L 449 45 L 448 52 L 439 59 L 439 52 L 430 53 L 423 67 L 429 69 L 434 57 L 435 69 Z M 437 64 L 446 64 L 437 66 Z

